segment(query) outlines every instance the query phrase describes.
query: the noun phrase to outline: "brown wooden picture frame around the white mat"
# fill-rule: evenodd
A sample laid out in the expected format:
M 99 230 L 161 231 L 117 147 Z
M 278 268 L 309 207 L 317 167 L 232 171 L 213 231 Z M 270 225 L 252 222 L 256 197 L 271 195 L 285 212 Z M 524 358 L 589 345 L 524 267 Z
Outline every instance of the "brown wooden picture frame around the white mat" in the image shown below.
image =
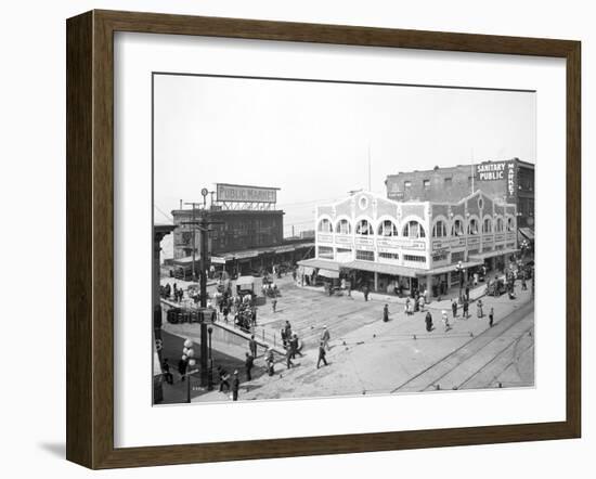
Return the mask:
M 578 41 L 115 11 L 67 30 L 66 457 L 90 468 L 579 438 L 581 435 L 581 44 Z M 453 52 L 567 62 L 567 418 L 205 444 L 114 446 L 114 33 L 134 31 Z

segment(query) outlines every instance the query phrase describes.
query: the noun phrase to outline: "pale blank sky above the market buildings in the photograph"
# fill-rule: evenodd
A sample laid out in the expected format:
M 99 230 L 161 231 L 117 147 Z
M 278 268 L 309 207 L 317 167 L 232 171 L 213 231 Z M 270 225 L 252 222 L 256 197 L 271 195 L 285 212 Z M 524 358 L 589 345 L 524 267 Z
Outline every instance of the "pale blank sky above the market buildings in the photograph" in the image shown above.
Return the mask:
M 519 157 L 535 163 L 531 92 L 156 75 L 155 221 L 215 183 L 276 186 L 286 234 L 387 174 Z M 171 218 L 170 218 L 171 221 Z

